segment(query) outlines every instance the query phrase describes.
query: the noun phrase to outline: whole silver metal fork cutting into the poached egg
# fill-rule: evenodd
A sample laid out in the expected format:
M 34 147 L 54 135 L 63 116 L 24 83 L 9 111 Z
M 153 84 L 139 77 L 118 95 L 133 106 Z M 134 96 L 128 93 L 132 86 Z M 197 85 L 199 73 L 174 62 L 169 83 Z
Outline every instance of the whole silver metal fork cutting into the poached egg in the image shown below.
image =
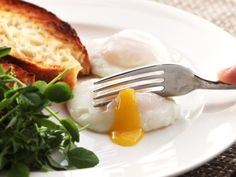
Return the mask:
M 209 81 L 177 64 L 154 64 L 127 70 L 94 82 L 94 107 L 108 104 L 119 91 L 133 88 L 164 97 L 185 95 L 195 89 L 236 89 L 236 85 Z

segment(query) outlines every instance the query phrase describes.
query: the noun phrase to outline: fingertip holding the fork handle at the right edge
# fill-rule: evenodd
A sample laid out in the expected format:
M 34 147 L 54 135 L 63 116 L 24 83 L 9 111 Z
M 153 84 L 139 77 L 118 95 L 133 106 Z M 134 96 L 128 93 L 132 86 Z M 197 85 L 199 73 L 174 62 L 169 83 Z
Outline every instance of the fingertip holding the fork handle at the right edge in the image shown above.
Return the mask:
M 236 84 L 236 66 L 226 68 L 218 73 L 220 81 L 228 84 Z

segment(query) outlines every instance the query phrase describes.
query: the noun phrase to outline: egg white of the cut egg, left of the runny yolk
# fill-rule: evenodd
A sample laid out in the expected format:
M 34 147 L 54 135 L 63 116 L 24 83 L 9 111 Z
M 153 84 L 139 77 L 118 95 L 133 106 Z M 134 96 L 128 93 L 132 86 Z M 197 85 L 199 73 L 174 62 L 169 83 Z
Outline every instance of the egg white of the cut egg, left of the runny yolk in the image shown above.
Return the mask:
M 81 79 L 73 90 L 75 97 L 67 102 L 72 118 L 81 126 L 89 124 L 89 129 L 107 132 L 113 123 L 114 110 L 108 107 L 93 107 L 93 82 L 96 79 Z

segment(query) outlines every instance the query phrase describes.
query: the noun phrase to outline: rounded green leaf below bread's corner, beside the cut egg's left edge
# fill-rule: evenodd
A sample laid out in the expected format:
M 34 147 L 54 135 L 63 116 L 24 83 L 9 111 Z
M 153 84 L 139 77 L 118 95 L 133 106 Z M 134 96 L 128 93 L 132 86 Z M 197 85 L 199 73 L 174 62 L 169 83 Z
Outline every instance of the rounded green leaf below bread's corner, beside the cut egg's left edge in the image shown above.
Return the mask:
M 49 85 L 44 94 L 50 101 L 56 103 L 62 103 L 73 98 L 72 90 L 65 82 L 57 82 Z

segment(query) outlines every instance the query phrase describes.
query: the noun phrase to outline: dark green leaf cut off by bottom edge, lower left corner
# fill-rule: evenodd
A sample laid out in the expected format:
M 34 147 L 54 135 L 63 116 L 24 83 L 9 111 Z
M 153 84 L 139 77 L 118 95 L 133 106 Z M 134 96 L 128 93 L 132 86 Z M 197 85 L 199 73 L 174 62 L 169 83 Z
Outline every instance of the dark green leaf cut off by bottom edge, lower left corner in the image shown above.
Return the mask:
M 13 163 L 7 177 L 29 177 L 29 168 L 23 163 Z

